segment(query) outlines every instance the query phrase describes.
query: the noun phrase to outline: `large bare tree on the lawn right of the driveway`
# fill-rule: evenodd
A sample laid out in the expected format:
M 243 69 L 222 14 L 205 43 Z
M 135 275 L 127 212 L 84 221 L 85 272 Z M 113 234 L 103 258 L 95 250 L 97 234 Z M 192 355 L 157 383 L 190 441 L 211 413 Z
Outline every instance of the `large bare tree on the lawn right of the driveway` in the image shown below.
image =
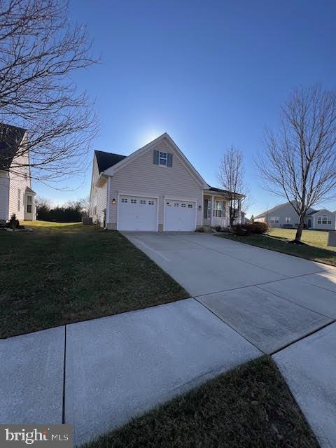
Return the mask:
M 300 244 L 309 208 L 335 197 L 336 92 L 320 85 L 293 90 L 281 108 L 278 135 L 268 131 L 258 168 L 264 187 L 292 204 Z

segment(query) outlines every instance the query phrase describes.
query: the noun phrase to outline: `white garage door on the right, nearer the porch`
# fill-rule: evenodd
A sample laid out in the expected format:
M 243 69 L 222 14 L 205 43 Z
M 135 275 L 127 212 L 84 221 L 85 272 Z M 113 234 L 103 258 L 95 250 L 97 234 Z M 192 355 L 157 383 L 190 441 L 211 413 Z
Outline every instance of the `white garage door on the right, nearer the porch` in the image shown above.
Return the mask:
M 196 228 L 196 203 L 165 200 L 164 230 L 190 230 Z

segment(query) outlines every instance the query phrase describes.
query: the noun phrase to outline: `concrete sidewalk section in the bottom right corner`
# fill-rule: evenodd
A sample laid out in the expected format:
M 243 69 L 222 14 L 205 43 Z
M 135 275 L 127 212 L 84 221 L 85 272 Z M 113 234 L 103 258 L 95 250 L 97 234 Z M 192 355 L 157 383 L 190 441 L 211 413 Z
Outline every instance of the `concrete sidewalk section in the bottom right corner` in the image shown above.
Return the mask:
M 336 323 L 273 356 L 322 448 L 336 447 Z

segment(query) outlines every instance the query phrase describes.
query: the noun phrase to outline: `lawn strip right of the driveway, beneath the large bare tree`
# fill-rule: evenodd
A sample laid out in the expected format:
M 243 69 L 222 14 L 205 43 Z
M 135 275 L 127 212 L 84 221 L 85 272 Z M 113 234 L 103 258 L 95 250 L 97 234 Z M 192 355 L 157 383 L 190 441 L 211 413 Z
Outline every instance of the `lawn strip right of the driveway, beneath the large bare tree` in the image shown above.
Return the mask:
M 293 229 L 273 228 L 269 235 L 249 235 L 248 237 L 237 237 L 235 235 L 220 235 L 223 238 L 239 241 L 240 243 L 251 244 L 272 251 L 288 253 L 300 258 L 307 258 L 336 266 L 336 248 L 327 246 L 328 232 L 318 230 L 303 230 L 302 241 L 307 245 L 288 244 L 295 237 Z

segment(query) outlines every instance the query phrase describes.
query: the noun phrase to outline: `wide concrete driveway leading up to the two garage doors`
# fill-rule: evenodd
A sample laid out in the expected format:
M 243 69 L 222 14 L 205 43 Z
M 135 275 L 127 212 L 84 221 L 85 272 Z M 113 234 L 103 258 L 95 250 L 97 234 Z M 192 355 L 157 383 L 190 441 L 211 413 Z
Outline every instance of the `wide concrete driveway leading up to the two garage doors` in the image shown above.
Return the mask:
M 264 353 L 336 318 L 336 269 L 209 234 L 124 235 Z

